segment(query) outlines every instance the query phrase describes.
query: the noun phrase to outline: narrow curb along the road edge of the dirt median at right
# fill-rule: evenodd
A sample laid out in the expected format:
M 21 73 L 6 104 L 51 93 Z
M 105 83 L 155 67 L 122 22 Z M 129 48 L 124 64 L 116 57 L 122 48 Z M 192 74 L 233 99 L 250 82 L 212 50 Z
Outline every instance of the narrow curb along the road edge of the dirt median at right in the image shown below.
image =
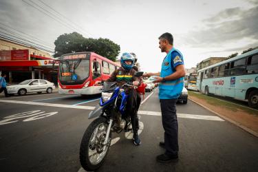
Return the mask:
M 189 98 L 189 97 L 188 97 Z M 258 138 L 258 133 L 253 131 L 252 129 L 249 129 L 248 127 L 245 127 L 244 125 L 241 125 L 239 122 L 235 122 L 235 120 L 231 120 L 230 118 L 227 118 L 226 116 L 222 116 L 222 114 L 217 113 L 216 111 L 213 111 L 212 109 L 202 105 L 201 103 L 198 103 L 197 101 L 189 98 L 193 103 L 196 103 L 197 105 L 200 105 L 201 107 L 204 107 L 204 109 L 207 109 L 208 111 L 211 111 L 213 114 L 216 114 L 220 118 L 223 118 L 224 120 L 227 120 L 228 122 L 233 123 L 234 125 L 237 125 L 237 127 L 240 127 L 241 129 L 244 129 L 248 133 L 252 134 L 253 136 L 256 136 Z

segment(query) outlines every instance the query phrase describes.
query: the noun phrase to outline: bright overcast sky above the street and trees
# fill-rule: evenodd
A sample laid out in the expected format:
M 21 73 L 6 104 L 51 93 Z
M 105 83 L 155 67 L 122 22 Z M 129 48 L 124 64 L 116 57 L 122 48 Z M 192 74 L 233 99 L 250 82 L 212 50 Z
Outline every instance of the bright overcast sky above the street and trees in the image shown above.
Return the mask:
M 52 18 L 69 19 L 70 27 Z M 121 53 L 135 52 L 142 71 L 158 72 L 166 56 L 158 47 L 164 32 L 173 34 L 186 68 L 258 46 L 258 0 L 0 0 L 0 26 L 6 25 L 52 47 L 59 35 L 74 31 L 107 38 Z

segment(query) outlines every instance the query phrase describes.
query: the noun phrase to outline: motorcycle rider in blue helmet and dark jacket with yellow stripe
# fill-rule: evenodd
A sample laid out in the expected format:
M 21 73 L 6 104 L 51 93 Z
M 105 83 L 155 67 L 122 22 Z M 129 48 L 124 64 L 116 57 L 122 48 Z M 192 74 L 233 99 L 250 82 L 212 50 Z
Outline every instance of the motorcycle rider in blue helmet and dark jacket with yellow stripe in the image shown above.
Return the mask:
M 133 81 L 134 86 L 138 86 L 140 84 L 140 80 L 138 77 L 134 77 L 136 74 L 136 70 L 133 68 L 134 57 L 130 53 L 123 53 L 120 58 L 121 67 L 116 69 L 107 79 L 107 82 L 116 82 L 118 86 L 121 86 L 129 81 Z M 137 103 L 137 92 L 136 89 L 127 88 L 125 89 L 125 94 L 128 95 L 127 105 L 126 105 L 126 113 L 131 117 L 131 125 L 133 128 L 133 144 L 137 146 L 141 144 L 140 138 L 138 136 L 139 129 L 139 119 L 137 116 L 138 103 Z

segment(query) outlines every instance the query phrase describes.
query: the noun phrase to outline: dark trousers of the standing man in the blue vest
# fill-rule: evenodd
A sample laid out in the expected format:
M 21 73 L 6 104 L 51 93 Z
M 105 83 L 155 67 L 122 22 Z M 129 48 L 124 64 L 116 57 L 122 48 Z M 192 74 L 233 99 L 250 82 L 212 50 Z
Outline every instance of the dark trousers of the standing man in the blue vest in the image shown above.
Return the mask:
M 178 155 L 178 118 L 175 104 L 177 99 L 160 99 L 162 125 L 166 155 Z

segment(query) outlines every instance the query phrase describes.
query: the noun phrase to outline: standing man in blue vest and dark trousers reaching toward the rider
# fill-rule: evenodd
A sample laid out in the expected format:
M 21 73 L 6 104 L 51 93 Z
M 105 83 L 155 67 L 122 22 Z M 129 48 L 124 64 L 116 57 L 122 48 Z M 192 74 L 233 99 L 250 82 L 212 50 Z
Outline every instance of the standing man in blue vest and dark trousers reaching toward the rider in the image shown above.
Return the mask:
M 147 73 L 144 76 L 155 76 L 155 83 L 159 85 L 160 108 L 162 125 L 164 128 L 164 142 L 160 147 L 166 151 L 157 156 L 158 162 L 178 161 L 178 118 L 176 115 L 176 102 L 184 87 L 184 60 L 181 52 L 173 47 L 173 36 L 164 33 L 159 37 L 161 52 L 166 52 L 162 62 L 161 72 Z

